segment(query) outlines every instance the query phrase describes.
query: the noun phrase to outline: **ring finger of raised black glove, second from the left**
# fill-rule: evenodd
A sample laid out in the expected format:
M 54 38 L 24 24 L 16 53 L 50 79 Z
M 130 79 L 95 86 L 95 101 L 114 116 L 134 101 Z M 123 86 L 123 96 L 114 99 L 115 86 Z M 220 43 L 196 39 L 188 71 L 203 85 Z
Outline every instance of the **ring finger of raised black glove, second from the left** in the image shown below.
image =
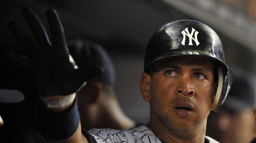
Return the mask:
M 25 54 L 26 56 L 32 56 L 37 50 L 37 47 L 32 39 L 19 27 L 16 22 L 10 22 L 8 24 L 8 29 L 12 35 L 20 42 L 23 49 L 16 48 L 19 53 Z

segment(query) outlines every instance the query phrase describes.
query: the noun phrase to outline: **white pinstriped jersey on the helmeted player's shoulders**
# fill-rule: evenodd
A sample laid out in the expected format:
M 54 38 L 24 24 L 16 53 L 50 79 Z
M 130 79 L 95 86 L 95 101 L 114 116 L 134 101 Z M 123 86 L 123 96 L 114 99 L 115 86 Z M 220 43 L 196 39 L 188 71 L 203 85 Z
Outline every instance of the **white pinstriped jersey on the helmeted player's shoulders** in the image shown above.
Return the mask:
M 162 143 L 158 137 L 146 126 L 115 130 L 115 129 L 96 129 L 88 131 L 97 143 Z M 205 136 L 208 143 L 219 143 L 216 140 Z

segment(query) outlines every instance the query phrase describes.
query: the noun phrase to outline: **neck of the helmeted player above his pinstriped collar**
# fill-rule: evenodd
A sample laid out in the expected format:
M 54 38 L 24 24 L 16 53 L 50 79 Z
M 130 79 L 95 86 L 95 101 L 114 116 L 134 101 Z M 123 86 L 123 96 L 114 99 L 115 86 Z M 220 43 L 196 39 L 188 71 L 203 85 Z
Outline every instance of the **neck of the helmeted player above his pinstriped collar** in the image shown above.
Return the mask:
M 150 123 L 146 125 L 160 140 L 165 143 L 204 143 L 205 129 L 198 133 L 196 130 L 193 132 L 194 137 L 191 139 L 182 139 L 181 137 L 168 130 L 162 125 L 155 116 L 151 116 Z M 206 124 L 205 124 L 206 128 Z

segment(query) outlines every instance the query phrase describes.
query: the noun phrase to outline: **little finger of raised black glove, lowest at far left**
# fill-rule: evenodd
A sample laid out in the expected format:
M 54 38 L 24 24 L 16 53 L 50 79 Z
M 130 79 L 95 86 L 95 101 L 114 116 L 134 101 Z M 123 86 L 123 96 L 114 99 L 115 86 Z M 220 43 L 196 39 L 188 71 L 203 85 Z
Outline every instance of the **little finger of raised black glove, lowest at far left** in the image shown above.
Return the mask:
M 15 53 L 9 49 L 6 49 L 4 54 L 9 60 L 21 67 L 27 68 L 29 66 L 29 59 L 21 54 Z

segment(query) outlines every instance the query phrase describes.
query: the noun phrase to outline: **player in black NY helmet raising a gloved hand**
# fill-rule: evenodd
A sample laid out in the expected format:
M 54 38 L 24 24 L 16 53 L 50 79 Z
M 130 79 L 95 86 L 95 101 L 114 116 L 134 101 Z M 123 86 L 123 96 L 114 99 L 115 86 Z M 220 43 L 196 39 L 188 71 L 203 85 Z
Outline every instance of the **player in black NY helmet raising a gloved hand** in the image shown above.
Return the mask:
M 210 111 L 218 112 L 226 98 L 228 67 L 222 43 L 207 25 L 193 20 L 173 21 L 151 37 L 140 78 L 141 94 L 150 103 L 149 124 L 124 130 L 82 131 L 75 92 L 84 81 L 97 76 L 99 69 L 86 70 L 84 78 L 75 75 L 79 67 L 69 62 L 63 27 L 55 10 L 46 14 L 52 42 L 31 9 L 25 8 L 23 15 L 38 40 L 37 46 L 23 39 L 24 33 L 15 30 L 16 23 L 10 23 L 9 29 L 29 49 L 30 54 L 22 57 L 30 60 L 29 70 L 41 98 L 36 117 L 38 131 L 48 142 L 217 142 L 205 136 L 206 122 Z M 18 51 L 13 53 L 20 55 Z

